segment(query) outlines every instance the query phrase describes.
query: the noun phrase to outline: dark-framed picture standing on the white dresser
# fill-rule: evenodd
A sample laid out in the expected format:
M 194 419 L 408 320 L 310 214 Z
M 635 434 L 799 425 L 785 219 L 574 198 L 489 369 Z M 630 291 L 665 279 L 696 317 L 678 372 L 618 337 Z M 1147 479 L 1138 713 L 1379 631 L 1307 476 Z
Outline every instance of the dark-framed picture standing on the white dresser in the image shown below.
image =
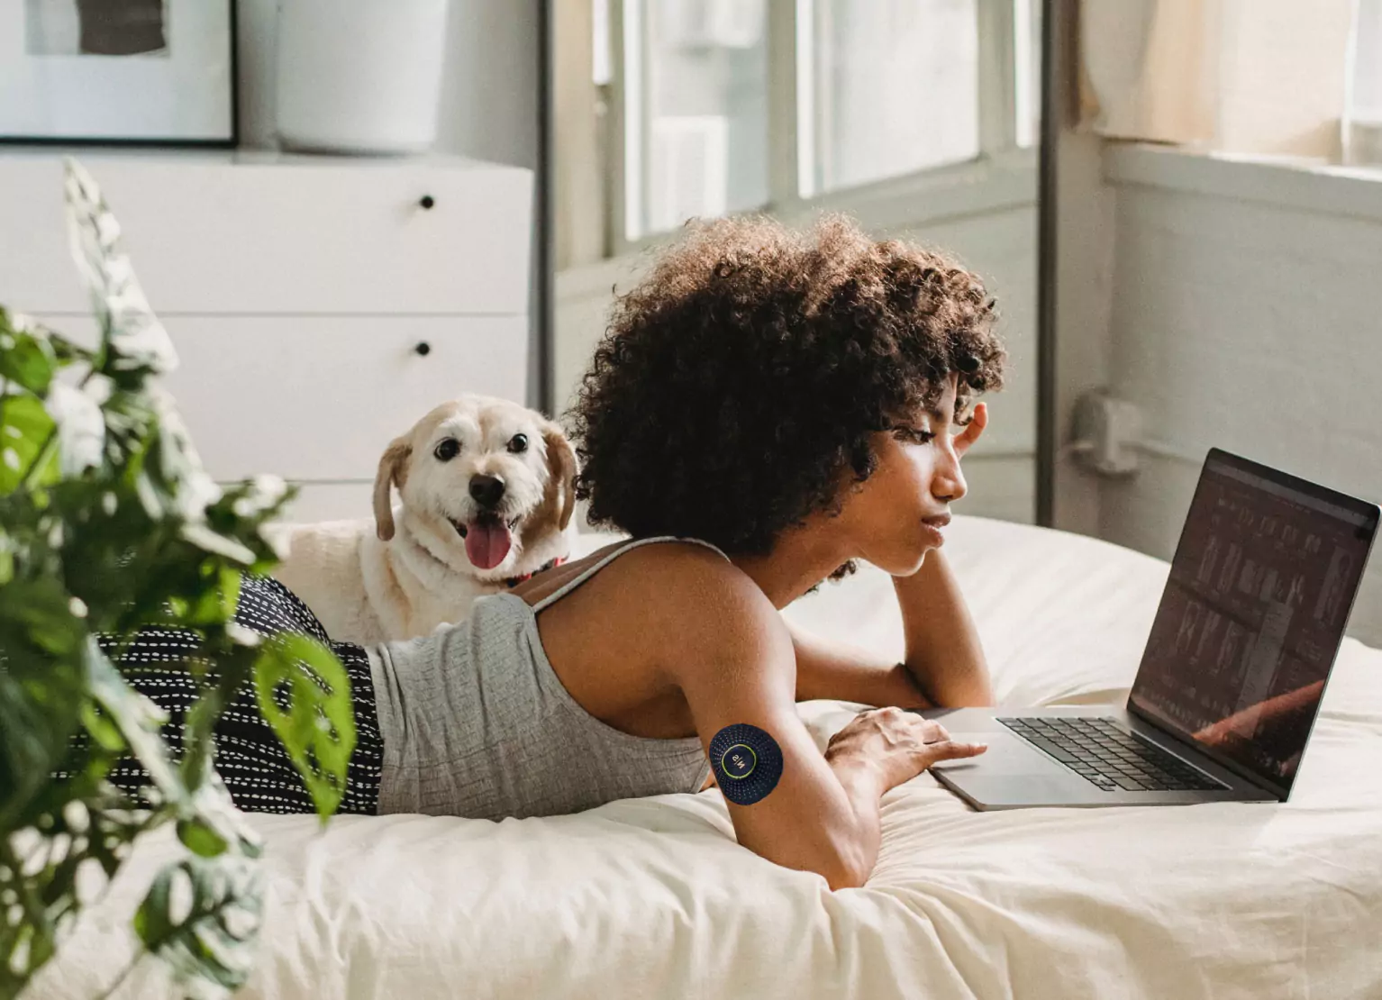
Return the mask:
M 0 142 L 235 138 L 235 0 L 0 0 Z

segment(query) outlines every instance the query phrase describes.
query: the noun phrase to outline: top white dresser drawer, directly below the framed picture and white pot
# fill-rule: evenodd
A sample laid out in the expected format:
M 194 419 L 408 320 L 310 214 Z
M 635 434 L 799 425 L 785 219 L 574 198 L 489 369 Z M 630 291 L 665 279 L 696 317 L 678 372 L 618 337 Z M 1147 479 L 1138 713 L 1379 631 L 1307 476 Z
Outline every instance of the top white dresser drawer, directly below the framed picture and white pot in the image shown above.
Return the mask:
M 528 312 L 528 170 L 231 153 L 79 159 L 160 315 Z M 0 157 L 0 302 L 86 311 L 59 157 Z

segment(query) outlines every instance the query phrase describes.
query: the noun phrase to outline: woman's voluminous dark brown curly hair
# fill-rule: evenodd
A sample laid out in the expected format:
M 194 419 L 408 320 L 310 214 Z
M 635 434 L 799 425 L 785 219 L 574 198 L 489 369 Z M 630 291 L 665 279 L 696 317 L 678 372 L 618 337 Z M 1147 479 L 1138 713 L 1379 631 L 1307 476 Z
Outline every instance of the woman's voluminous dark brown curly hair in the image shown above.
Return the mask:
M 943 253 L 828 215 L 692 222 L 615 301 L 569 412 L 576 496 L 594 525 L 764 554 L 844 477 L 869 435 L 1002 387 L 1006 352 L 980 279 Z

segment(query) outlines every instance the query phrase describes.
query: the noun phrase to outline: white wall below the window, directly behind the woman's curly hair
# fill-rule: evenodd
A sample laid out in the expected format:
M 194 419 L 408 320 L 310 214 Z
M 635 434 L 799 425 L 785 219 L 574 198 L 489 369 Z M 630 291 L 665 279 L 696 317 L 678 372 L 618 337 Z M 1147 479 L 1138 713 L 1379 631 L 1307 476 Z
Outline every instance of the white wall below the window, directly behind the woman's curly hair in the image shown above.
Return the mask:
M 873 232 L 898 235 L 958 254 L 998 298 L 1012 354 L 1009 387 L 990 398 L 988 432 L 965 460 L 965 514 L 1031 522 L 1035 497 L 1036 406 L 1036 169 L 1030 151 L 998 163 L 940 171 L 897 185 L 842 195 L 828 207 Z M 788 218 L 792 224 L 807 218 Z M 627 289 L 645 257 L 557 273 L 554 344 L 558 413 L 605 329 L 611 286 Z

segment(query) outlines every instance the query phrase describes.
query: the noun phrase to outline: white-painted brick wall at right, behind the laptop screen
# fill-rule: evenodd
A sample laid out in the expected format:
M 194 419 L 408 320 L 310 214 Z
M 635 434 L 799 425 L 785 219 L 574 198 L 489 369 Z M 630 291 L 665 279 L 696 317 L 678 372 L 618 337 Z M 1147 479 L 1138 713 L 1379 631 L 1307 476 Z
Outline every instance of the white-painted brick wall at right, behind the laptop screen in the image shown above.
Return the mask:
M 1382 499 L 1382 178 L 1111 146 L 1110 384 L 1144 456 L 1099 535 L 1169 558 L 1211 446 Z M 1350 631 L 1382 644 L 1382 559 Z

